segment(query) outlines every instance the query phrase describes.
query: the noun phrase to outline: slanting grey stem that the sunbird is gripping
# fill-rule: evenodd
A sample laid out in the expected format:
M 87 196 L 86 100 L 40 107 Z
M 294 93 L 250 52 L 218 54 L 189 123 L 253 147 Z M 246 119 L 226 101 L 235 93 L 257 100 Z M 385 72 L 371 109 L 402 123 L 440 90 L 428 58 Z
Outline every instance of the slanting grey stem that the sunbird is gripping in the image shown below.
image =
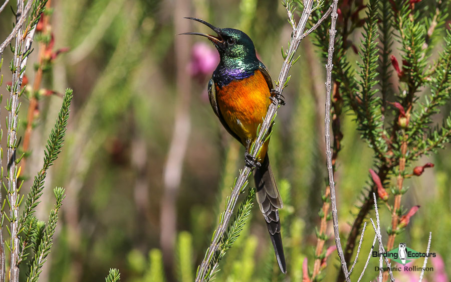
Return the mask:
M 282 70 L 279 74 L 278 83 L 277 83 L 277 86 L 275 89 L 276 91 L 279 91 L 279 93 L 282 93 L 284 87 L 286 86 L 288 72 L 292 66 L 292 59 L 293 59 L 294 54 L 298 50 L 299 44 L 301 43 L 305 26 L 312 13 L 312 6 L 313 6 L 313 0 L 306 0 L 305 5 L 304 5 L 304 11 L 302 12 L 302 15 L 301 15 L 301 19 L 298 23 L 296 30 L 292 34 L 290 48 L 288 49 L 287 56 L 285 57 L 284 63 L 282 65 Z M 276 117 L 278 107 L 279 107 L 279 102 L 277 101 L 275 103 L 271 103 L 268 108 L 268 112 L 265 116 L 265 119 L 263 120 L 263 123 L 261 124 L 257 139 L 250 152 L 250 154 L 255 158 L 258 156 L 260 149 L 263 146 L 264 139 L 267 136 L 267 134 L 269 133 L 269 128 L 270 128 L 271 124 L 273 123 L 274 118 Z M 227 229 L 227 226 L 229 225 L 229 221 L 231 219 L 231 216 L 232 216 L 233 210 L 235 208 L 235 205 L 237 203 L 238 197 L 240 196 L 240 193 L 243 191 L 243 189 L 246 187 L 247 179 L 250 174 L 251 174 L 251 168 L 249 168 L 247 166 L 245 166 L 244 169 L 241 170 L 240 176 L 238 177 L 236 184 L 234 186 L 234 189 L 232 190 L 232 194 L 230 196 L 230 200 L 227 204 L 227 207 L 226 207 L 225 211 L 223 212 L 223 216 L 221 217 L 218 227 L 214 231 L 214 235 L 213 235 L 211 244 L 205 253 L 205 257 L 202 260 L 202 263 L 199 265 L 197 275 L 196 275 L 196 280 L 195 280 L 196 282 L 203 281 L 203 278 L 207 272 L 208 265 L 211 261 L 211 258 L 213 256 L 213 254 L 216 252 L 217 248 L 219 247 L 220 239 L 222 238 L 225 230 Z

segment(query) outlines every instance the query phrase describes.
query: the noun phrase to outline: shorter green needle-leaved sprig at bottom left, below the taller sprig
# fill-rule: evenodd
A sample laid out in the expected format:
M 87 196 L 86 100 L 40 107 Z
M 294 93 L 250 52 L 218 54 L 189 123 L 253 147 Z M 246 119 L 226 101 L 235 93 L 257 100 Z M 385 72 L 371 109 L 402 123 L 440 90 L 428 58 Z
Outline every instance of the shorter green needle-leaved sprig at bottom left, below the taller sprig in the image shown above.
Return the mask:
M 49 222 L 44 232 L 44 236 L 39 243 L 38 251 L 35 253 L 34 258 L 30 263 L 30 273 L 27 277 L 27 282 L 38 281 L 42 266 L 44 265 L 44 262 L 46 262 L 46 257 L 50 253 L 50 248 L 52 247 L 52 237 L 58 222 L 58 212 L 60 211 L 65 197 L 65 190 L 61 187 L 57 187 L 53 192 L 56 198 L 55 208 L 50 211 Z

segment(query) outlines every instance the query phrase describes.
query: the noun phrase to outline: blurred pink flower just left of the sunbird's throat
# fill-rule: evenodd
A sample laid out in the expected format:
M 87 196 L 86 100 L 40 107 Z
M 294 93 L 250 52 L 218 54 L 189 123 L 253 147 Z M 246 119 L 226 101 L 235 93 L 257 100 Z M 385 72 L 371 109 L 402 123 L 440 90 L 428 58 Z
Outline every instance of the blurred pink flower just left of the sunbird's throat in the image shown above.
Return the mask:
M 192 77 L 203 80 L 205 76 L 210 76 L 219 63 L 219 54 L 210 45 L 198 42 L 192 47 L 191 61 L 188 64 L 188 71 Z

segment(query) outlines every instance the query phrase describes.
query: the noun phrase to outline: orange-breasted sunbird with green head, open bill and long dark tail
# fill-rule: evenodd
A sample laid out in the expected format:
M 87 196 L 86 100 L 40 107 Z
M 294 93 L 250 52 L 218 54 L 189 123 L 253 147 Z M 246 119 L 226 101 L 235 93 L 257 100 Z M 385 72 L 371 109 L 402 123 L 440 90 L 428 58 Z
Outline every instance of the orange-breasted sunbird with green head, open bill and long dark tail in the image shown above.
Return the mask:
M 285 104 L 283 96 L 273 89 L 268 69 L 257 59 L 254 43 L 247 34 L 237 29 L 216 28 L 196 18 L 186 19 L 202 23 L 217 34 L 182 33 L 208 38 L 219 52 L 219 64 L 208 82 L 210 104 L 222 126 L 245 146 L 246 165 L 255 167 L 257 201 L 265 217 L 280 270 L 286 273 L 278 210 L 283 207 L 283 202 L 267 154 L 269 139 L 257 158 L 250 155 L 257 129 L 270 103 Z

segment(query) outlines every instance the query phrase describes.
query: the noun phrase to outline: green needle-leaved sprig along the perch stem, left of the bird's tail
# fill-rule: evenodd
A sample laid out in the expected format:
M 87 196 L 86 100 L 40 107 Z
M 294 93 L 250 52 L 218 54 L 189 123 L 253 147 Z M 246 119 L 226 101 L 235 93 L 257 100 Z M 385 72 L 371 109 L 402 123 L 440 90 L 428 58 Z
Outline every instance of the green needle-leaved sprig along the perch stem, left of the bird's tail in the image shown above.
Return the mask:
M 243 231 L 243 227 L 245 226 L 246 221 L 251 214 L 251 209 L 254 206 L 254 199 L 255 189 L 251 188 L 249 189 L 249 193 L 246 196 L 246 199 L 244 199 L 241 203 L 237 215 L 234 217 L 232 223 L 224 233 L 218 250 L 213 255 L 213 258 L 210 261 L 205 281 L 210 281 L 213 278 L 214 274 L 218 270 L 218 264 L 224 257 L 225 252 L 232 247 L 232 245 L 240 236 L 241 231 Z

